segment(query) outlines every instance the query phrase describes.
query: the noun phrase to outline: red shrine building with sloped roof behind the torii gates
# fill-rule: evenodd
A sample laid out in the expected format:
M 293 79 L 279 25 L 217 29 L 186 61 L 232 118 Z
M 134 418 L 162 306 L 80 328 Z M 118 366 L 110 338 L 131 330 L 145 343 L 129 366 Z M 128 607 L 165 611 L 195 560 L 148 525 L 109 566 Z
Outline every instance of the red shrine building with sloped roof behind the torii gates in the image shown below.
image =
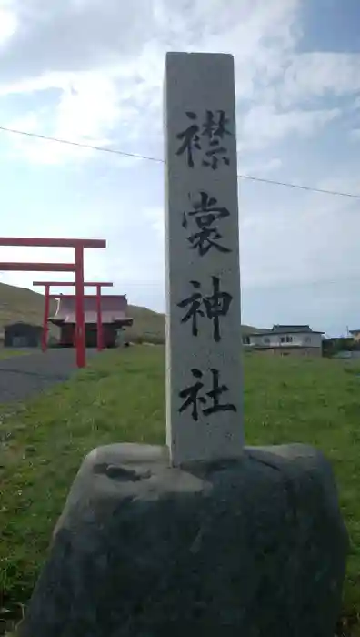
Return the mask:
M 96 297 L 84 297 L 85 346 L 96 347 L 97 311 Z M 133 319 L 127 316 L 126 295 L 103 295 L 101 297 L 103 339 L 105 348 L 114 348 L 118 332 L 133 325 Z M 59 345 L 63 348 L 75 346 L 75 297 L 59 296 L 55 316 L 49 319 L 60 328 Z

